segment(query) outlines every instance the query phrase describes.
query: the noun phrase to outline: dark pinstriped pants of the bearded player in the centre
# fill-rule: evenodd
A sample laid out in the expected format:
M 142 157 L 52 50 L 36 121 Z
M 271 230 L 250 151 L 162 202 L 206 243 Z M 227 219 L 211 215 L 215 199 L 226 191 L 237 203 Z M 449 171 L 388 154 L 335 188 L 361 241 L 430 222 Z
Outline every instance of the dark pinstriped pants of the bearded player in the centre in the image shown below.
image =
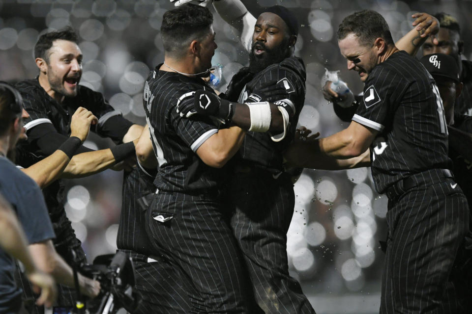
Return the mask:
M 287 174 L 253 168 L 236 173 L 227 190 L 231 226 L 242 250 L 254 297 L 266 314 L 315 313 L 299 283 L 289 275 L 287 231 L 295 207 Z

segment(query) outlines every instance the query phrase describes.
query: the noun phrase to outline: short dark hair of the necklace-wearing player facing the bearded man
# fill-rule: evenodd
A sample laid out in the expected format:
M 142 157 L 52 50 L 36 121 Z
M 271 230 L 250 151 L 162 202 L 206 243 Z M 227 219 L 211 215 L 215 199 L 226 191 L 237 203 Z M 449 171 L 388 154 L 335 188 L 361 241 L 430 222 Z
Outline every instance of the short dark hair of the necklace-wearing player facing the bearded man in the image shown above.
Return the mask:
M 213 15 L 203 6 L 187 3 L 167 11 L 161 25 L 164 51 L 182 57 L 192 40 L 203 40 L 208 35 L 212 24 Z

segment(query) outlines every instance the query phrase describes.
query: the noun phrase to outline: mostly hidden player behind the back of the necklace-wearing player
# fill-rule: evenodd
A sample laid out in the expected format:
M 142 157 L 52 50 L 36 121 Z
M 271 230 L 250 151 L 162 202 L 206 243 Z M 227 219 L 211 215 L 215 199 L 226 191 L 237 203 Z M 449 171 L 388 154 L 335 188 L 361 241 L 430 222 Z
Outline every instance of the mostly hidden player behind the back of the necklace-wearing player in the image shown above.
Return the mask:
M 153 249 L 146 232 L 146 213 L 156 190 L 153 181 L 157 167 L 148 126 L 136 144 L 136 155 L 139 167 L 133 168 L 129 173 L 125 172 L 123 179 L 122 209 L 117 235 L 118 249 L 133 260 L 134 291 L 141 298 L 133 313 L 189 313 L 190 301 L 184 285 L 174 275 L 173 266 Z

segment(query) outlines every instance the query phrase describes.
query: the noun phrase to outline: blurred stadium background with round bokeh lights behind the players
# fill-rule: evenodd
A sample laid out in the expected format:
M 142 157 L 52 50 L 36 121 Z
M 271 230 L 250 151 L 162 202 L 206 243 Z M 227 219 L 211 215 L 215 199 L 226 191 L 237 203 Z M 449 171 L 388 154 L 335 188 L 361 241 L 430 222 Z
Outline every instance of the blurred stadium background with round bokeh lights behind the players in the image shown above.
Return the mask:
M 336 30 L 342 19 L 360 9 L 383 14 L 399 39 L 411 28 L 414 12 L 444 11 L 455 16 L 462 34 L 471 29 L 472 1 L 243 0 L 251 12 L 276 3 L 298 17 L 295 52 L 307 69 L 305 107 L 300 125 L 322 136 L 347 127 L 321 94 L 325 68 L 339 75 L 354 92 L 362 84 L 346 69 Z M 67 25 L 80 35 L 84 54 L 81 84 L 102 92 L 129 120 L 145 124 L 142 91 L 150 69 L 163 61 L 159 27 L 167 0 L 0 0 L 0 79 L 34 78 L 32 48 L 38 35 Z M 248 55 L 231 26 L 215 16 L 218 49 L 213 64 L 223 65 L 221 90 Z M 466 41 L 465 57 L 472 57 Z M 102 149 L 110 140 L 91 134 L 86 143 Z M 68 181 L 65 209 L 89 262 L 116 250 L 122 173 L 107 170 Z M 317 313 L 378 313 L 386 236 L 387 198 L 373 190 L 369 168 L 347 171 L 305 170 L 295 184 L 295 214 L 288 233 L 291 274 L 297 278 Z

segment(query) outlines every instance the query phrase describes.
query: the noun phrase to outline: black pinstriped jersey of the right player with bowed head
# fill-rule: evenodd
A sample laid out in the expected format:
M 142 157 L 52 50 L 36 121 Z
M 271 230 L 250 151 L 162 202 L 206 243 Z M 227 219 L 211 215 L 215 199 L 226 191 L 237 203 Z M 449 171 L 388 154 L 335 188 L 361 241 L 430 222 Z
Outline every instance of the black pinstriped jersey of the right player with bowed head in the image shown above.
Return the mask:
M 353 121 L 379 131 L 370 147 L 379 193 L 412 174 L 451 168 L 438 87 L 406 52 L 393 53 L 372 70 Z

